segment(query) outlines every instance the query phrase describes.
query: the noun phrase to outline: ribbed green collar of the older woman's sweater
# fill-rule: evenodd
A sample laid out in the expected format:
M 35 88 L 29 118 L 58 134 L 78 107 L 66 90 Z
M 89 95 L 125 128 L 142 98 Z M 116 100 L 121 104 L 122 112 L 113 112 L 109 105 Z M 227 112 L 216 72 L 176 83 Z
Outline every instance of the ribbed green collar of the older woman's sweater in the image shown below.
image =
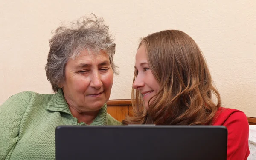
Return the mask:
M 73 117 L 68 107 L 67 101 L 65 100 L 62 89 L 58 89 L 57 93 L 53 94 L 47 106 L 47 110 L 63 112 L 66 114 L 70 114 Z M 106 125 L 107 124 L 106 119 L 107 119 L 107 105 L 104 104 L 104 106 L 99 110 L 99 113 L 96 116 L 96 118 L 93 120 L 93 123 L 91 123 L 90 125 L 94 125 L 94 126 Z

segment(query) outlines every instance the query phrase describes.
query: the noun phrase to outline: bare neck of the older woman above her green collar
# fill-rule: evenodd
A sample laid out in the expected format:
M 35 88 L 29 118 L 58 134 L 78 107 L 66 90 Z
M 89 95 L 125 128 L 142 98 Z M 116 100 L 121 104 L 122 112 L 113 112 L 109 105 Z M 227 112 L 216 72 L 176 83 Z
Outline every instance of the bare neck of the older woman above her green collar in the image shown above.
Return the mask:
M 87 125 L 93 123 L 93 120 L 97 117 L 99 113 L 99 111 L 81 112 L 72 106 L 69 106 L 69 108 L 73 117 L 77 118 L 77 123 L 84 122 Z

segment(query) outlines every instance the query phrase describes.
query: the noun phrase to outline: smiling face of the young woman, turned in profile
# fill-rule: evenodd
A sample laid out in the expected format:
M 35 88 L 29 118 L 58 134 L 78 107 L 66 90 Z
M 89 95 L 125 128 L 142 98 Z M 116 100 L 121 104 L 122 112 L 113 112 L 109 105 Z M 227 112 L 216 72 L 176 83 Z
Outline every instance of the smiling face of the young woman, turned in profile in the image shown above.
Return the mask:
M 148 101 L 157 94 L 160 85 L 149 68 L 146 49 L 143 45 L 137 50 L 134 68 L 137 77 L 134 80 L 133 88 L 140 91 L 145 109 L 148 110 Z

